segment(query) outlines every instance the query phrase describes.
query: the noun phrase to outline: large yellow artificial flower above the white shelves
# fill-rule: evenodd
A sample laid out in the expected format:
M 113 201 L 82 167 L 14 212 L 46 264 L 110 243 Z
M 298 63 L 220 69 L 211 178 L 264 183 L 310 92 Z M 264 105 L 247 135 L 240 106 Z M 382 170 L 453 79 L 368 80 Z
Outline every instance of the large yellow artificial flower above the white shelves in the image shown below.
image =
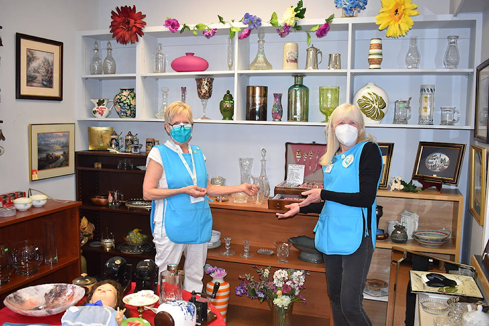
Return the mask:
M 404 36 L 413 27 L 413 19 L 410 16 L 419 15 L 415 10 L 418 5 L 412 4 L 411 0 L 382 0 L 382 8 L 375 16 L 375 23 L 378 30 L 382 31 L 386 27 L 387 37 Z

